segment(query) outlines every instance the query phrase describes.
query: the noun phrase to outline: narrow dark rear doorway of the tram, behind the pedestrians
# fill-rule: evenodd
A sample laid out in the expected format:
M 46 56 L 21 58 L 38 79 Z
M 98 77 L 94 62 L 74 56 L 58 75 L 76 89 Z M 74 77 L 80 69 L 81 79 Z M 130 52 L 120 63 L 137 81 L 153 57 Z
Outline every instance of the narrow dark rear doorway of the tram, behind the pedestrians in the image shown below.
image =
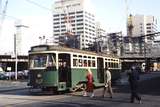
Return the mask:
M 103 58 L 97 58 L 97 78 L 100 83 L 104 83 L 104 64 Z

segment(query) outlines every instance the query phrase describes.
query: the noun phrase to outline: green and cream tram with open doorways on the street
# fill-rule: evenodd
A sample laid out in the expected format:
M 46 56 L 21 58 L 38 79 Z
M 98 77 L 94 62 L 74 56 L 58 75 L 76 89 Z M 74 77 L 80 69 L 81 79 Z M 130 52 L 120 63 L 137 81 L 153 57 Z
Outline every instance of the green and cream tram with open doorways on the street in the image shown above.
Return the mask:
M 31 47 L 29 51 L 29 83 L 42 90 L 75 90 L 86 81 L 86 70 L 94 75 L 94 85 L 104 85 L 104 68 L 108 66 L 112 79 L 120 75 L 118 57 L 90 51 L 51 45 Z

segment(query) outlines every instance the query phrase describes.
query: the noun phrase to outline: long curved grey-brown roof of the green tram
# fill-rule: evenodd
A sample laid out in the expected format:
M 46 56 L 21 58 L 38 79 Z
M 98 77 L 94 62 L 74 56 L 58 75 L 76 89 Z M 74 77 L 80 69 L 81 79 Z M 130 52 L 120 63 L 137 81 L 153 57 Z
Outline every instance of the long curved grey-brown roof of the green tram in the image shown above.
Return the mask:
M 118 57 L 113 54 L 105 54 L 105 53 L 96 53 L 93 51 L 87 51 L 87 50 L 80 50 L 75 48 L 68 48 L 68 47 L 62 47 L 62 46 L 55 46 L 55 45 L 38 45 L 31 47 L 32 52 L 38 52 L 38 51 L 61 51 L 61 52 L 74 52 L 74 53 L 81 53 L 81 54 L 89 54 L 89 55 L 96 55 L 96 56 L 105 56 L 105 57 Z

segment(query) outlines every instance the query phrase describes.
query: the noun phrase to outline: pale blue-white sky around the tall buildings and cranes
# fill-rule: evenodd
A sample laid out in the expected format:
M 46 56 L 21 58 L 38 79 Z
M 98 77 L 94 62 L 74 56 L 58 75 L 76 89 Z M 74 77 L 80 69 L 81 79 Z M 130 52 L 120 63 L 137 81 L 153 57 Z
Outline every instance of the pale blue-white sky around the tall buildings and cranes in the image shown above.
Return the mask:
M 4 3 L 2 0 L 2 12 Z M 40 43 L 39 37 L 52 36 L 52 5 L 55 0 L 8 0 L 6 17 L 0 32 L 0 53 L 13 53 L 15 22 L 28 26 L 23 28 L 22 51 L 26 54 L 32 45 Z M 96 12 L 96 19 L 107 32 L 122 31 L 126 34 L 125 0 L 90 0 Z M 34 3 L 39 4 L 35 5 Z M 160 24 L 160 0 L 128 0 L 128 14 L 152 15 Z

